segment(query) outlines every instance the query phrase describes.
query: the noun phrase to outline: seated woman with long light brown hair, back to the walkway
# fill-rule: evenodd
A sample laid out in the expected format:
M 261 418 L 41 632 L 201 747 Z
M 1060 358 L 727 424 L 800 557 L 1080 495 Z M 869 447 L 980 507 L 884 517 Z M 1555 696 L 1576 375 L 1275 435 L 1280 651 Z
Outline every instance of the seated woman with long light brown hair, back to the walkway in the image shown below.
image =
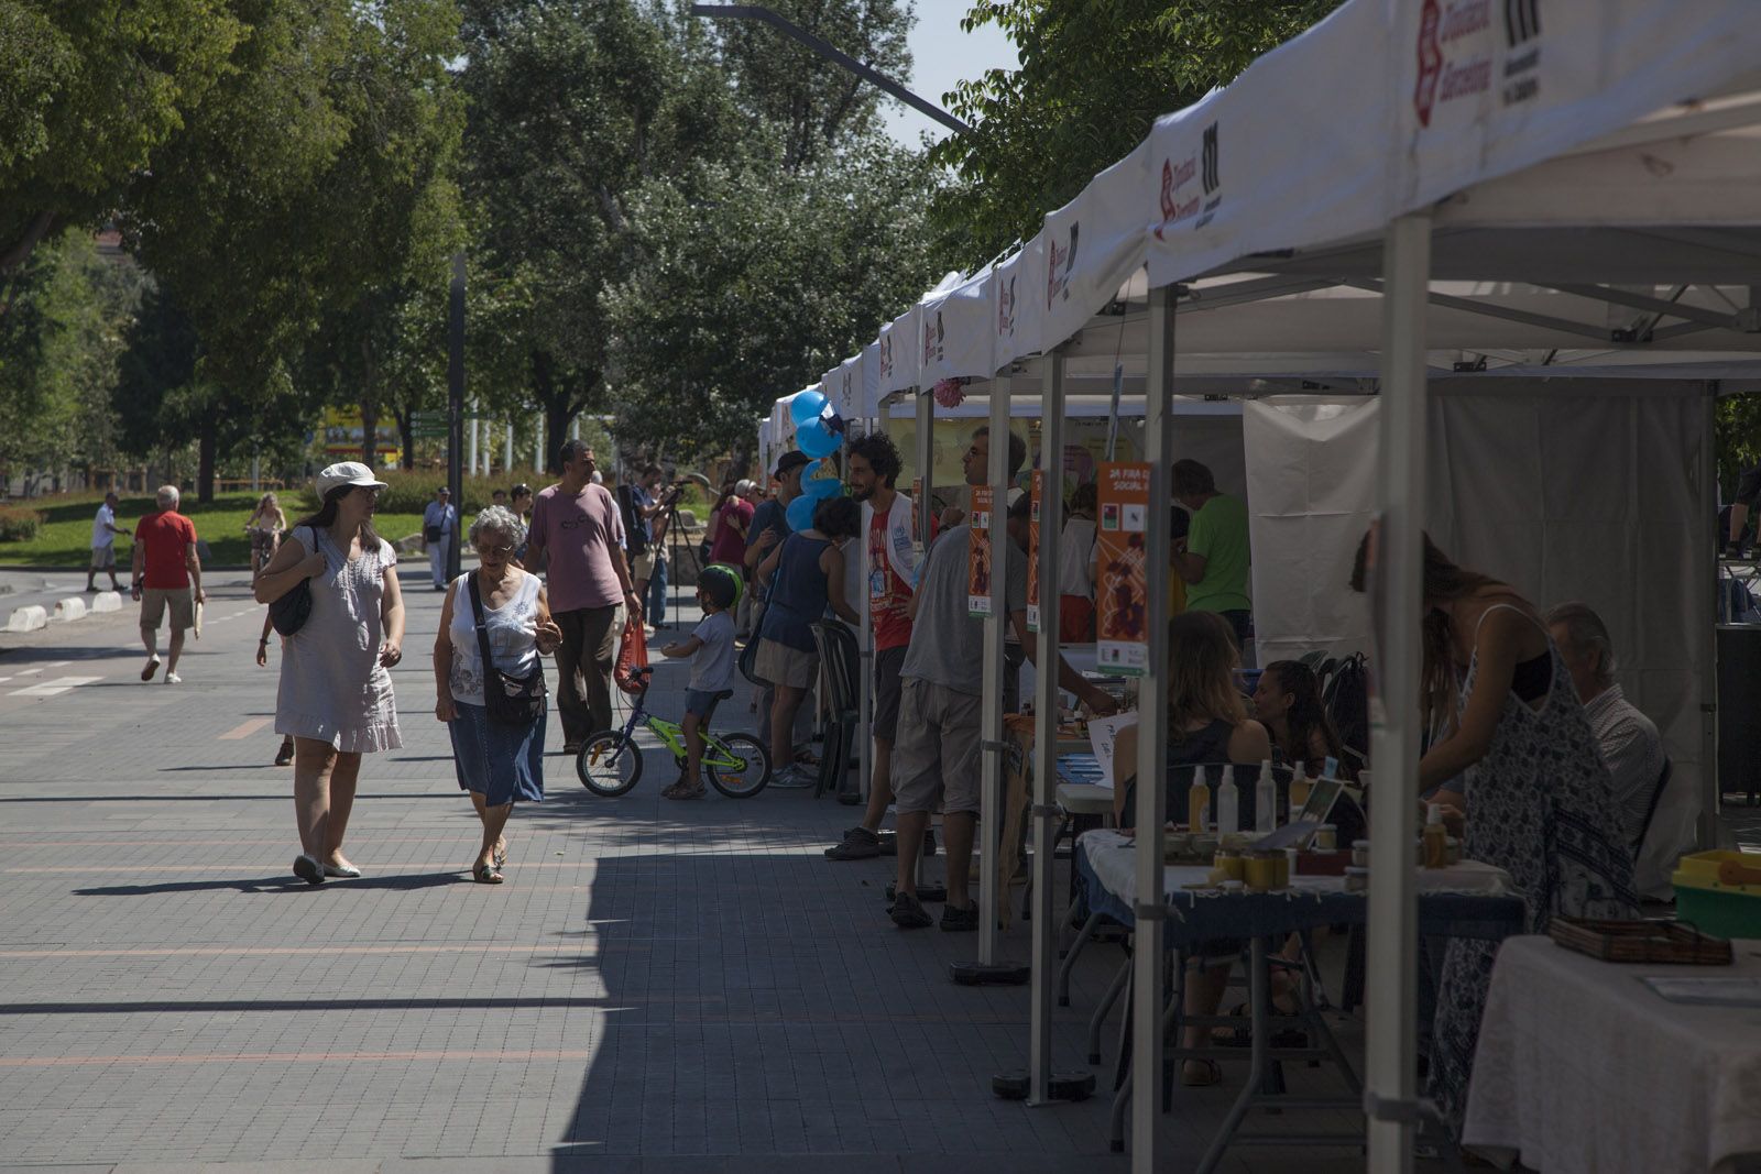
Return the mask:
M 1208 611 L 1189 611 L 1168 621 L 1168 760 L 1162 781 L 1169 790 L 1168 810 L 1185 808 L 1189 785 L 1203 787 L 1197 767 L 1210 762 L 1257 764 L 1271 757 L 1266 727 L 1247 716 L 1242 692 L 1234 686 L 1240 653 L 1229 623 Z M 1131 827 L 1138 810 L 1138 730 L 1120 730 L 1115 760 L 1136 764 L 1138 771 L 1113 790 L 1113 813 L 1120 827 Z M 1153 773 L 1153 767 L 1152 767 Z M 1215 942 L 1206 958 L 1196 959 L 1187 975 L 1185 1010 L 1189 1016 L 1215 1016 L 1229 980 L 1229 961 L 1240 952 L 1238 942 Z M 1206 1030 L 1187 1028 L 1187 1047 L 1205 1047 Z M 1189 1060 L 1182 1082 L 1217 1084 L 1217 1065 Z

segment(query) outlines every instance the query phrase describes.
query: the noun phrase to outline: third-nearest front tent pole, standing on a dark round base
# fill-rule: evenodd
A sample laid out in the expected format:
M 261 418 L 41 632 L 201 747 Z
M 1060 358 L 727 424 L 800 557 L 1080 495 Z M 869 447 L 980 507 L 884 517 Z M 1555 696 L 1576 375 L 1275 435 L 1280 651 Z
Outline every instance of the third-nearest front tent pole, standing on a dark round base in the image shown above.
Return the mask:
M 1039 648 L 1034 655 L 1034 977 L 1028 1102 L 1051 1098 L 1051 1000 L 1058 973 L 1051 836 L 1058 790 L 1058 533 L 1064 530 L 1064 354 L 1044 359 L 1039 410 Z

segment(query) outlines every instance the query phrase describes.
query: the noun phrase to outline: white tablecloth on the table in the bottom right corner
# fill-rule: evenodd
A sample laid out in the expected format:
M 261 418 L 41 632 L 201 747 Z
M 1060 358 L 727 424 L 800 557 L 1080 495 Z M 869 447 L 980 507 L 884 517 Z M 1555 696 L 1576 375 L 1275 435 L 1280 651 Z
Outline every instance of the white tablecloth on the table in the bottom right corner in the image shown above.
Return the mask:
M 1761 942 L 1731 945 L 1735 966 L 1615 966 L 1507 940 L 1462 1141 L 1543 1174 L 1761 1165 L 1761 1010 L 1671 1003 L 1639 980 L 1761 975 Z

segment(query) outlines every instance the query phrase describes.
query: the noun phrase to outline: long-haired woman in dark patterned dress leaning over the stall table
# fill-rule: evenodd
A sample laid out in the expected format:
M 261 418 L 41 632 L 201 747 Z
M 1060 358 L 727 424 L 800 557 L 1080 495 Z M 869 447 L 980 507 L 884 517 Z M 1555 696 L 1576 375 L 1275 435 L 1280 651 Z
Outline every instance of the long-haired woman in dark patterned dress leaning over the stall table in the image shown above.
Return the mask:
M 1354 591 L 1374 563 L 1370 532 L 1358 544 Z M 1523 933 L 1546 933 L 1557 914 L 1638 917 L 1613 783 L 1534 604 L 1456 567 L 1425 535 L 1423 609 L 1419 704 L 1442 734 L 1419 759 L 1419 789 L 1442 789 L 1467 811 L 1463 855 L 1511 875 L 1529 903 Z M 1495 956 L 1488 942 L 1451 942 L 1444 961 L 1430 1093 L 1456 1134 Z

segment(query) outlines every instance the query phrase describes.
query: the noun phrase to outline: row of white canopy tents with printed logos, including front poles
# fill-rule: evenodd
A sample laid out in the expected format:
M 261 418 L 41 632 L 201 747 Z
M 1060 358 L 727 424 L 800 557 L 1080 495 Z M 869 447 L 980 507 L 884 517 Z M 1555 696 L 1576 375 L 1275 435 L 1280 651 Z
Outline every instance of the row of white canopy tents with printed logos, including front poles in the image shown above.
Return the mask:
M 1333 387 L 1375 371 L 1382 391 L 1375 500 L 1386 627 L 1377 641 L 1381 720 L 1372 753 L 1377 787 L 1389 794 L 1416 792 L 1418 539 L 1433 516 L 1425 493 L 1428 368 L 1435 363 L 1428 347 L 1477 350 L 1449 366 L 1486 361 L 1522 375 L 1550 375 L 1571 345 L 1645 354 L 1684 347 L 1684 364 L 1706 352 L 1756 350 L 1757 305 L 1747 287 L 1761 259 L 1761 81 L 1749 70 L 1761 60 L 1761 9 L 1745 0 L 1604 0 L 1550 5 L 1544 25 L 1537 16 L 1536 4 L 1499 11 L 1490 4 L 1351 0 L 1229 88 L 1159 120 L 1136 151 L 1048 215 L 1044 231 L 1023 250 L 969 282 L 944 283 L 940 296 L 889 324 L 875 343 L 879 394 L 956 375 L 1013 371 L 1025 356 L 1046 356 L 1039 373 L 1043 444 L 1050 451 L 1062 447 L 1071 371 L 1106 363 L 1109 354 L 1120 361 L 1143 356 L 1145 447 L 1155 470 L 1150 567 L 1168 565 L 1171 393 L 1176 378 L 1189 389 L 1212 373 L 1203 361 L 1199 370 L 1185 359 L 1176 366 L 1176 336 L 1182 356 L 1203 352 L 1206 331 L 1226 326 L 1205 322 L 1206 299 L 1212 306 L 1222 299 L 1270 301 L 1266 322 L 1282 315 L 1275 340 L 1252 334 L 1263 340 L 1259 350 L 1286 356 L 1264 364 L 1268 380 Z M 1139 301 L 1131 276 L 1143 264 L 1141 341 L 1127 345 Z M 1495 327 L 1449 319 L 1463 310 L 1462 299 L 1474 301 L 1474 289 L 1490 305 L 1497 290 L 1485 283 L 1511 282 L 1541 289 L 1502 290 L 1506 313 L 1481 315 L 1497 319 Z M 988 306 L 983 341 L 967 334 L 979 320 L 979 305 Z M 1101 315 L 1115 305 L 1125 313 Z M 1189 345 L 1189 331 L 1197 343 Z M 905 338 L 921 349 L 902 354 Z M 1289 359 L 1308 349 L 1324 361 Z M 1617 356 L 1608 366 L 1622 361 Z M 1738 361 L 1715 363 L 1747 373 Z M 1106 371 L 1111 378 L 1111 363 Z M 925 422 L 926 405 L 919 394 Z M 1706 419 L 1703 405 L 1701 396 Z M 993 396 L 988 407 L 993 428 L 1006 426 L 1007 400 Z M 1446 428 L 1451 412 L 1440 414 Z M 926 437 L 928 428 L 919 428 L 919 445 Z M 1705 488 L 1705 433 L 1701 442 L 1696 472 Z M 1002 449 L 991 449 L 993 484 L 1006 472 Z M 1043 526 L 1057 530 L 1058 514 L 1060 505 L 1048 502 Z M 1000 517 L 993 549 L 1006 551 L 998 532 Z M 1053 551 L 1055 544 L 1041 546 L 1043 577 L 1055 576 Z M 1000 584 L 1000 567 L 993 570 Z M 1155 590 L 1148 630 L 1150 665 L 1159 665 L 1166 660 L 1166 593 Z M 1041 634 L 1041 662 L 1055 649 L 1053 627 Z M 988 709 L 998 695 L 1000 657 L 1000 623 L 993 620 L 986 630 Z M 1043 725 L 1055 713 L 1053 686 L 1051 674 L 1041 674 Z M 1701 688 L 1710 695 L 1708 679 Z M 1141 706 L 1157 711 L 1164 704 L 1166 683 L 1152 671 Z M 1701 720 L 1710 725 L 1710 716 Z M 1143 730 L 1141 753 L 1160 760 L 1159 723 Z M 984 737 L 995 741 L 990 720 Z M 1053 750 L 1055 739 L 1043 729 L 1035 759 L 1041 787 L 1051 778 Z M 990 755 L 988 776 L 993 771 Z M 1160 789 L 1139 789 L 1139 892 L 1160 889 L 1162 815 Z M 1411 1165 L 1418 1119 L 1412 845 L 1405 804 L 1379 804 L 1374 818 L 1370 1165 L 1400 1170 Z M 1037 829 L 1039 894 L 1050 894 L 1044 824 L 1041 818 Z M 1138 914 L 1132 1072 L 1139 1090 L 1153 1090 L 1162 1053 L 1155 1024 L 1164 910 L 1150 903 Z M 1035 933 L 1043 921 L 1035 917 Z M 1050 1049 L 1041 1024 L 1050 1023 L 1050 973 L 1037 975 L 1034 991 L 1034 1100 L 1048 1093 Z M 1134 1169 L 1141 1170 L 1155 1169 L 1153 1102 L 1141 1097 L 1143 1111 L 1132 1118 Z

